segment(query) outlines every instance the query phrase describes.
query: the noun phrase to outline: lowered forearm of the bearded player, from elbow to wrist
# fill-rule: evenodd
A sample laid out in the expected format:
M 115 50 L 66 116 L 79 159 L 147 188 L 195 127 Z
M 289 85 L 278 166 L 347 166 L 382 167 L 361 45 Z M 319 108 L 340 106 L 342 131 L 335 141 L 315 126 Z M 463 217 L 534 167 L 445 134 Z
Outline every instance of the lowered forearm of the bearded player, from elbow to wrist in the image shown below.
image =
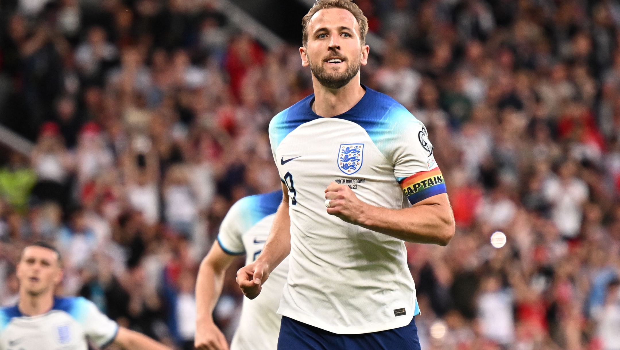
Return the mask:
M 258 260 L 269 266 L 269 271 L 278 266 L 291 252 L 291 219 L 288 215 L 288 201 L 283 201 L 275 213 L 263 252 Z

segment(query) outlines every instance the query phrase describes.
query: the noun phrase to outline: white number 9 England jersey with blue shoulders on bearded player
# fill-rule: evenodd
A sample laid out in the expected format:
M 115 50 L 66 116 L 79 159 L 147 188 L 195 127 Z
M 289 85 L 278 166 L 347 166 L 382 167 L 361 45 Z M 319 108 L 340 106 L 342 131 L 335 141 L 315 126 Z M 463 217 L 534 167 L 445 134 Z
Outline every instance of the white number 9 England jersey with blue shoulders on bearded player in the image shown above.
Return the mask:
M 291 254 L 278 313 L 339 334 L 409 325 L 419 310 L 404 242 L 327 214 L 325 188 L 348 185 L 361 201 L 389 209 L 446 191 L 422 123 L 364 88 L 346 113 L 322 118 L 310 95 L 269 126 L 290 196 Z

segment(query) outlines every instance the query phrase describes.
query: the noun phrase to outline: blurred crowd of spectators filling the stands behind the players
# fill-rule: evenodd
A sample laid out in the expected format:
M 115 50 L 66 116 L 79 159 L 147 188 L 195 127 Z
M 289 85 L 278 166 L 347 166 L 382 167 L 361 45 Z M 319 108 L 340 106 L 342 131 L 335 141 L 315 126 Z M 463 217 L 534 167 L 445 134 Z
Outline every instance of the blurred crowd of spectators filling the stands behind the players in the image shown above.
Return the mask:
M 425 123 L 457 222 L 407 245 L 422 349 L 620 350 L 620 2 L 356 3 L 386 43 L 362 82 Z M 51 240 L 60 294 L 192 349 L 198 263 L 232 203 L 280 188 L 267 125 L 312 92 L 298 43 L 216 5 L 0 3 L 0 123 L 35 142 L 0 152 L 0 304 L 20 247 Z

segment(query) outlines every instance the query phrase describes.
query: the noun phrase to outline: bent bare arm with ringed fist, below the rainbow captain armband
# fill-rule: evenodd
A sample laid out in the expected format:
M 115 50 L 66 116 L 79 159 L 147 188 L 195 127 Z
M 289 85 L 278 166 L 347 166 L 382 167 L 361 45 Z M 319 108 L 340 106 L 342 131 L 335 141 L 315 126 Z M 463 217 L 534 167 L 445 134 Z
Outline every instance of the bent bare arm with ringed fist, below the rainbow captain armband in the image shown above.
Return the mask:
M 364 203 L 347 185 L 331 183 L 325 199 L 330 199 L 328 214 L 407 242 L 447 245 L 454 236 L 454 216 L 445 193 L 411 208 L 387 209 Z

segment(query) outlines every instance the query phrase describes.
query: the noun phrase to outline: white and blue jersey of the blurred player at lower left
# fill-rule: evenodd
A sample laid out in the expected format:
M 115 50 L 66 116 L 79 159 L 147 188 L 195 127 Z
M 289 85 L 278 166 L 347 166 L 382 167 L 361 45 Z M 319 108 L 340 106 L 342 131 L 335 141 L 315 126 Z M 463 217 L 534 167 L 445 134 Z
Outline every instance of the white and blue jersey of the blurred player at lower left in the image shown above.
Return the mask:
M 118 325 L 82 297 L 56 298 L 43 315 L 24 316 L 17 306 L 0 309 L 0 350 L 87 350 L 87 340 L 103 349 Z

